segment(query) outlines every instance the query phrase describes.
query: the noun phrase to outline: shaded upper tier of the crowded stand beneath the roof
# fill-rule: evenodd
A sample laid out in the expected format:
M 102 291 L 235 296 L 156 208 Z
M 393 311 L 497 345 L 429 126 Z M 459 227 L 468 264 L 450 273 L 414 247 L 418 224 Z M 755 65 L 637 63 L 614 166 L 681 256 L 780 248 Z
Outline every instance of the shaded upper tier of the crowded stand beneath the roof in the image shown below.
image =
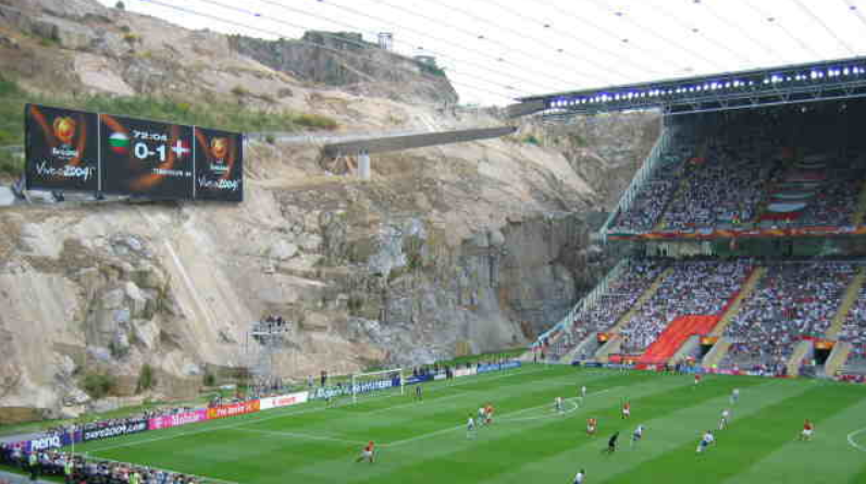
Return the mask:
M 607 232 L 651 238 L 855 232 L 866 188 L 866 138 L 856 133 L 864 116 L 862 101 L 692 116 L 696 128 L 670 136 Z

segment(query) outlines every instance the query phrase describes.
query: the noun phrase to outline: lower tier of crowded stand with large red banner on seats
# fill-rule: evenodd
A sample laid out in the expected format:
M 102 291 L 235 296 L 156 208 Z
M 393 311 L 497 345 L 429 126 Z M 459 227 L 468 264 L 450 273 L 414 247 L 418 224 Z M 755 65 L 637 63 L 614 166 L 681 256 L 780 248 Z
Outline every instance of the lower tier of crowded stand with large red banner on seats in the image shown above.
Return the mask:
M 857 276 L 865 270 L 866 259 L 630 260 L 594 305 L 542 345 L 571 360 L 712 357 L 716 368 L 783 372 L 792 359 L 822 362 L 817 344 L 839 340 L 851 344 L 845 368 L 866 368 L 866 288 Z M 704 336 L 714 337 L 693 338 Z M 725 348 L 708 353 L 719 342 Z

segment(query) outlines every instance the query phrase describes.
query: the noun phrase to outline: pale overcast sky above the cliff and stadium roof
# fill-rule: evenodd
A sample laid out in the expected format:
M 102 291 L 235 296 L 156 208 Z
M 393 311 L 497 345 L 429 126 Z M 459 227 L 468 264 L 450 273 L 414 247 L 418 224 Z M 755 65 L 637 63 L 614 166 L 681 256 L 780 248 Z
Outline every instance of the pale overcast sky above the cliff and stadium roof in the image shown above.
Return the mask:
M 113 5 L 116 0 L 99 0 Z M 394 35 L 462 103 L 866 54 L 866 0 L 124 0 L 187 28 L 262 38 Z

